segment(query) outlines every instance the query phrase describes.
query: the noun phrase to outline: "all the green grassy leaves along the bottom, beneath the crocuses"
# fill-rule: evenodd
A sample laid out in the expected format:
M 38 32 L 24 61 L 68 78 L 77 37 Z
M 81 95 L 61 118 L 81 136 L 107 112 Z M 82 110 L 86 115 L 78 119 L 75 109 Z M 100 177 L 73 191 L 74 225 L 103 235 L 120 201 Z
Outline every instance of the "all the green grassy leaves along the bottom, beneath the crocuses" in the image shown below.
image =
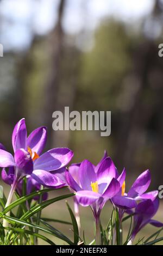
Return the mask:
M 79 228 L 76 217 L 67 202 L 66 204 L 71 217 L 71 222 L 41 216 L 42 209 L 53 203 L 59 202 L 60 200 L 74 196 L 74 193 L 69 193 L 62 196 L 54 197 L 45 202 L 41 202 L 41 200 L 39 200 L 38 202 L 33 204 L 33 197 L 40 196 L 43 193 L 49 191 L 51 191 L 51 189 L 42 189 L 40 191 L 30 193 L 23 197 L 19 197 L 18 194 L 16 194 L 17 199 L 12 202 L 7 208 L 5 208 L 5 197 L 4 199 L 1 199 L 2 211 L 0 212 L 0 245 L 36 245 L 38 239 L 47 242 L 49 245 L 55 245 L 55 239 L 59 239 L 68 245 L 78 245 L 79 243 L 84 245 L 87 244 L 86 233 L 83 230 L 83 239 L 81 239 L 79 236 Z M 11 210 L 14 210 L 14 214 L 11 212 Z M 3 220 L 9 223 L 8 227 L 3 227 Z M 109 218 L 109 221 L 106 224 L 105 228 L 100 222 L 102 245 L 127 245 L 131 239 L 131 234 L 134 229 L 133 220 L 133 214 L 131 214 L 123 217 L 122 221 L 120 221 L 118 209 L 115 208 L 114 210 L 112 210 L 111 217 Z M 126 225 L 128 221 L 128 234 L 122 237 L 122 224 Z M 73 232 L 73 241 L 71 241 L 71 239 L 67 235 L 65 235 L 49 223 L 70 225 L 70 227 L 72 227 L 70 230 Z M 163 228 L 159 229 L 151 236 L 146 238 L 146 240 L 144 239 L 144 237 L 142 239 L 139 239 L 137 242 L 134 243 L 134 245 L 155 245 L 156 243 L 163 241 L 163 237 L 160 236 L 162 230 Z M 95 239 L 89 242 L 89 245 L 95 244 Z

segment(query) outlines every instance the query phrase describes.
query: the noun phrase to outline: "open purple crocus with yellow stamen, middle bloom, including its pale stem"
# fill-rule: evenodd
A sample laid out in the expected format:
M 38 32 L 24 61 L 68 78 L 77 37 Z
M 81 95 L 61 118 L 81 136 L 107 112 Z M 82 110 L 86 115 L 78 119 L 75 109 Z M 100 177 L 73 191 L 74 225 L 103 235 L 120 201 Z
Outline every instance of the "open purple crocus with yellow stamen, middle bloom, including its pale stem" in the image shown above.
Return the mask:
M 72 169 L 70 172 L 66 170 L 67 183 L 76 191 L 78 203 L 82 206 L 91 206 L 98 231 L 101 210 L 106 201 L 120 190 L 125 178 L 124 172 L 125 170 L 116 179 L 116 167 L 110 157 L 104 158 L 98 168 L 95 168 L 90 161 L 84 160 L 78 168 L 78 175 L 74 175 L 74 178 Z M 100 243 L 99 239 L 97 243 Z

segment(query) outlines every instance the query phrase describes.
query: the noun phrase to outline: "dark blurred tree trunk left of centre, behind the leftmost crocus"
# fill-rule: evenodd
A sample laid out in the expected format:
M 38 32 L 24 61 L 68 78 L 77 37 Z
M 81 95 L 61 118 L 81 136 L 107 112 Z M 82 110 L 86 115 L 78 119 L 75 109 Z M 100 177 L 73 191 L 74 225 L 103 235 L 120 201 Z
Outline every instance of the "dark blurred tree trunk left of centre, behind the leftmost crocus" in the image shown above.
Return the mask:
M 51 48 L 51 70 L 49 72 L 48 81 L 45 87 L 45 106 L 43 113 L 43 120 L 48 128 L 48 146 L 53 144 L 52 141 L 52 113 L 57 109 L 58 105 L 58 91 L 60 86 L 60 66 L 63 50 L 64 31 L 62 29 L 62 17 L 64 15 L 65 0 L 60 0 L 58 8 L 58 21 L 50 38 Z

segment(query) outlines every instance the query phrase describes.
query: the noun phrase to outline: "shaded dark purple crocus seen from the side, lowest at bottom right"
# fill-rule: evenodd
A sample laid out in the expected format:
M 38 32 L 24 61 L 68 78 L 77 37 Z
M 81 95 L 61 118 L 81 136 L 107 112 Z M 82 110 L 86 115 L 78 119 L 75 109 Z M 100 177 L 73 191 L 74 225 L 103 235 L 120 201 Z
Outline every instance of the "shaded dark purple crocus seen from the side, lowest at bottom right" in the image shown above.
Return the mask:
M 136 234 L 148 223 L 158 228 L 163 227 L 163 223 L 152 220 L 153 216 L 158 211 L 158 208 L 159 199 L 155 198 L 154 200 L 143 200 L 142 202 L 137 204 L 135 211 L 130 210 L 130 213 L 134 214 L 134 229 L 132 231 L 128 245 L 131 245 L 133 243 Z

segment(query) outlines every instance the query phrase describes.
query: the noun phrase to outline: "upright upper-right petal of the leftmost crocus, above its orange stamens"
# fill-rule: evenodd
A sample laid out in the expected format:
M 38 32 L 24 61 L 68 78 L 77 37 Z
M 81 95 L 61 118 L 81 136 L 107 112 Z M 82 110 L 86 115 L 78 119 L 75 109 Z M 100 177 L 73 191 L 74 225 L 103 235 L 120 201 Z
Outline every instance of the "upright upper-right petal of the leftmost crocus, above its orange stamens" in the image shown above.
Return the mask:
M 38 155 L 42 153 L 42 150 L 45 148 L 47 141 L 47 128 L 39 127 L 30 133 L 27 138 L 27 146 L 32 149 L 33 152 L 36 152 Z

